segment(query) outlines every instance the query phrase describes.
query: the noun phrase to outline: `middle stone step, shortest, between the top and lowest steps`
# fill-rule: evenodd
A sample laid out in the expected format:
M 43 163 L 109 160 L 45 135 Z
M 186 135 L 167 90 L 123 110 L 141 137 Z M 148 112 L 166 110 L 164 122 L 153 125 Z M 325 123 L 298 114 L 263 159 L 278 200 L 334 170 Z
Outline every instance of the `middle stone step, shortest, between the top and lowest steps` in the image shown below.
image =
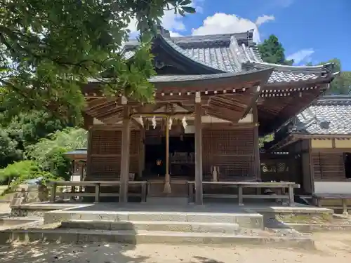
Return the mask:
M 134 221 L 116 222 L 112 220 L 69 220 L 61 223 L 63 229 L 102 229 L 102 230 L 147 230 L 180 231 L 199 233 L 239 233 L 239 225 L 234 223 Z

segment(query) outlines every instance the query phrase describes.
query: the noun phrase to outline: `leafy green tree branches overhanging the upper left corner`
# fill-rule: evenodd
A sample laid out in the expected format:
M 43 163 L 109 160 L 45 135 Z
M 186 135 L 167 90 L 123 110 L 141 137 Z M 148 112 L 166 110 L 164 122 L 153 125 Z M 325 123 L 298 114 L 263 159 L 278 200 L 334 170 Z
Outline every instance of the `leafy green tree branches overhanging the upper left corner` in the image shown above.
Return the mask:
M 0 105 L 8 115 L 45 109 L 78 122 L 88 78 L 107 94 L 152 100 L 150 37 L 165 10 L 194 13 L 190 0 L 7 0 L 0 15 Z M 131 59 L 119 51 L 131 19 L 140 48 Z

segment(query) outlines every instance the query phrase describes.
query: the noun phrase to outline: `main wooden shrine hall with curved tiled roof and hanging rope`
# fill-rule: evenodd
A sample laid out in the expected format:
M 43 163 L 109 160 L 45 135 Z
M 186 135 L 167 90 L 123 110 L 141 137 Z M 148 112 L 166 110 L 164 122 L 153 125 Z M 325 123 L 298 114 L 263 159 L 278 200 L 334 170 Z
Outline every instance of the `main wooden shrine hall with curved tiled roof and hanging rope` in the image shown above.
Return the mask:
M 137 47 L 129 41 L 123 54 L 132 58 Z M 173 38 L 160 28 L 152 53 L 153 104 L 104 97 L 99 81 L 82 89 L 85 180 L 119 182 L 122 202 L 133 193 L 130 182 L 149 182 L 150 196 L 187 195 L 192 182 L 196 203 L 207 191 L 218 194 L 209 182 L 259 182 L 259 136 L 296 116 L 335 76 L 331 64 L 263 62 L 252 31 Z

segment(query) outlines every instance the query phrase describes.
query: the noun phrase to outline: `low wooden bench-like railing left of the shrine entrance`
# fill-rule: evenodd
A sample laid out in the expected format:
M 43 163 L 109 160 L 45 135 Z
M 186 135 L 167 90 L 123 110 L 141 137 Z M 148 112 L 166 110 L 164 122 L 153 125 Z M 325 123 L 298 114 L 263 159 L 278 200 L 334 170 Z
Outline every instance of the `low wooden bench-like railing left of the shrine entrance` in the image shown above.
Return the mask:
M 85 196 L 93 196 L 95 197 L 95 203 L 99 202 L 100 196 L 119 196 L 119 193 L 101 193 L 100 187 L 119 187 L 119 181 L 84 181 L 84 182 L 49 182 L 51 186 L 51 202 L 55 201 L 56 196 L 62 196 L 63 198 L 67 197 L 85 197 Z M 141 192 L 140 194 L 128 193 L 128 196 L 140 196 L 142 202 L 146 202 L 147 195 L 147 182 L 146 181 L 129 181 L 128 185 L 140 185 Z M 57 187 L 72 187 L 71 192 L 65 193 L 57 193 Z M 74 191 L 76 187 L 95 187 L 95 191 L 93 193 L 86 191 Z

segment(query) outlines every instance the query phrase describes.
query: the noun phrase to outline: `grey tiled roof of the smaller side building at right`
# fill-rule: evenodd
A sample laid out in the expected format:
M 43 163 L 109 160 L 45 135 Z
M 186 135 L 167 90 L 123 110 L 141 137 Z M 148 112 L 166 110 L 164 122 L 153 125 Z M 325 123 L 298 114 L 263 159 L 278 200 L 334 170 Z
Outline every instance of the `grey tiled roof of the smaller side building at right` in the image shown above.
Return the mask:
M 296 131 L 351 135 L 351 96 L 325 96 L 296 116 Z

